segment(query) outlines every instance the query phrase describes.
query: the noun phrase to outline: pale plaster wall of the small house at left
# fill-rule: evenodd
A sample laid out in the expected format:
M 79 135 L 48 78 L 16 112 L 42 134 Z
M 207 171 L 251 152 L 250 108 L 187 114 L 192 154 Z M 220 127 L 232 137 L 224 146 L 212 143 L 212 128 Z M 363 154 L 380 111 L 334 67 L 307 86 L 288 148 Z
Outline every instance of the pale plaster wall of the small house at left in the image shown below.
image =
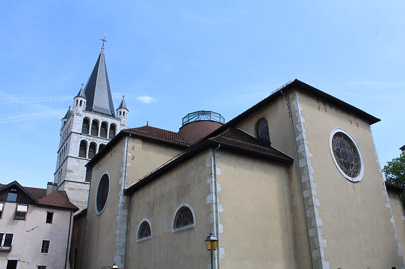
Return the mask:
M 48 210 L 54 212 L 52 224 L 46 223 Z M 48 268 L 64 268 L 71 229 L 69 222 L 73 220 L 73 212 L 28 205 L 26 220 L 20 221 L 14 220 L 15 211 L 16 203 L 5 203 L 0 219 L 0 233 L 11 233 L 14 236 L 12 250 L 0 251 L 0 267 L 7 264 L 7 259 L 20 259 L 18 268 L 28 268 L 22 261 L 29 262 L 30 268 L 36 268 L 37 264 L 48 265 Z M 42 240 L 51 241 L 49 254 L 41 253 Z M 68 265 L 66 268 L 69 268 Z

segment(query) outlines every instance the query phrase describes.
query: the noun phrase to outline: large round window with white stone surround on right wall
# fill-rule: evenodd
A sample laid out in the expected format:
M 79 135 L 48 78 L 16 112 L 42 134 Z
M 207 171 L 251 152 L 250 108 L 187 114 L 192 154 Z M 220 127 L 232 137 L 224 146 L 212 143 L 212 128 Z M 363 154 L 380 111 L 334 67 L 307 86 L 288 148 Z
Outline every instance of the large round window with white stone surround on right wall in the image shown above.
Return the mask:
M 362 158 L 351 136 L 342 129 L 331 133 L 331 153 L 336 166 L 345 178 L 358 182 L 363 174 Z

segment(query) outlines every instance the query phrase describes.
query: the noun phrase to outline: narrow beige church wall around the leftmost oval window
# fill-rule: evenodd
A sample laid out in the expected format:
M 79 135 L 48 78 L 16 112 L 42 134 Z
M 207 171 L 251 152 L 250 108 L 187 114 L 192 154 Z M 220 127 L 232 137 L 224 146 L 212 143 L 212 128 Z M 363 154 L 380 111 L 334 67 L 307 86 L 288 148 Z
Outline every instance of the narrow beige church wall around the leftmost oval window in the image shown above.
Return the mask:
M 121 169 L 124 161 L 125 137 L 121 138 L 111 147 L 104 156 L 94 164 L 92 181 L 89 192 L 88 219 L 86 229 L 86 245 L 84 254 L 84 268 L 97 266 L 112 266 L 116 256 L 115 246 L 117 243 L 117 216 L 119 191 L 121 190 L 119 179 L 122 177 Z M 102 214 L 95 211 L 95 195 L 101 175 L 108 171 L 110 186 L 108 200 Z

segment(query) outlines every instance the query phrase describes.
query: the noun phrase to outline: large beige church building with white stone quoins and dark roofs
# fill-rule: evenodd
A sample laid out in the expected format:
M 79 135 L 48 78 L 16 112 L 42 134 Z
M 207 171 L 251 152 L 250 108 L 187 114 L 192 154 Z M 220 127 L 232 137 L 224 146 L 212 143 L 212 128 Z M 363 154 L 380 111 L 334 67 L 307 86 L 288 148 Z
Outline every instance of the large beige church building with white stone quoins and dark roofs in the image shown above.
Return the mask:
M 405 266 L 378 118 L 294 80 L 226 124 L 196 119 L 122 130 L 90 160 L 83 268 L 210 268 L 210 233 L 217 269 Z

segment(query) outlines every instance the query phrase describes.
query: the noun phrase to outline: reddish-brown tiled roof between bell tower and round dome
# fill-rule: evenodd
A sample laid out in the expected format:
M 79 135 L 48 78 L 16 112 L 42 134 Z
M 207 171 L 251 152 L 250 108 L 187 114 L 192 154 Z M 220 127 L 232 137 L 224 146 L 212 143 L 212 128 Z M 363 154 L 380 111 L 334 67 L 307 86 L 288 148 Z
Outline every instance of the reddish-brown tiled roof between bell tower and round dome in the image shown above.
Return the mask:
M 154 140 L 169 142 L 172 144 L 182 145 L 182 146 L 189 146 L 190 143 L 186 141 L 183 137 L 181 137 L 178 133 L 152 127 L 149 125 L 125 129 L 123 130 L 125 133 L 135 134 L 142 137 L 152 138 Z

